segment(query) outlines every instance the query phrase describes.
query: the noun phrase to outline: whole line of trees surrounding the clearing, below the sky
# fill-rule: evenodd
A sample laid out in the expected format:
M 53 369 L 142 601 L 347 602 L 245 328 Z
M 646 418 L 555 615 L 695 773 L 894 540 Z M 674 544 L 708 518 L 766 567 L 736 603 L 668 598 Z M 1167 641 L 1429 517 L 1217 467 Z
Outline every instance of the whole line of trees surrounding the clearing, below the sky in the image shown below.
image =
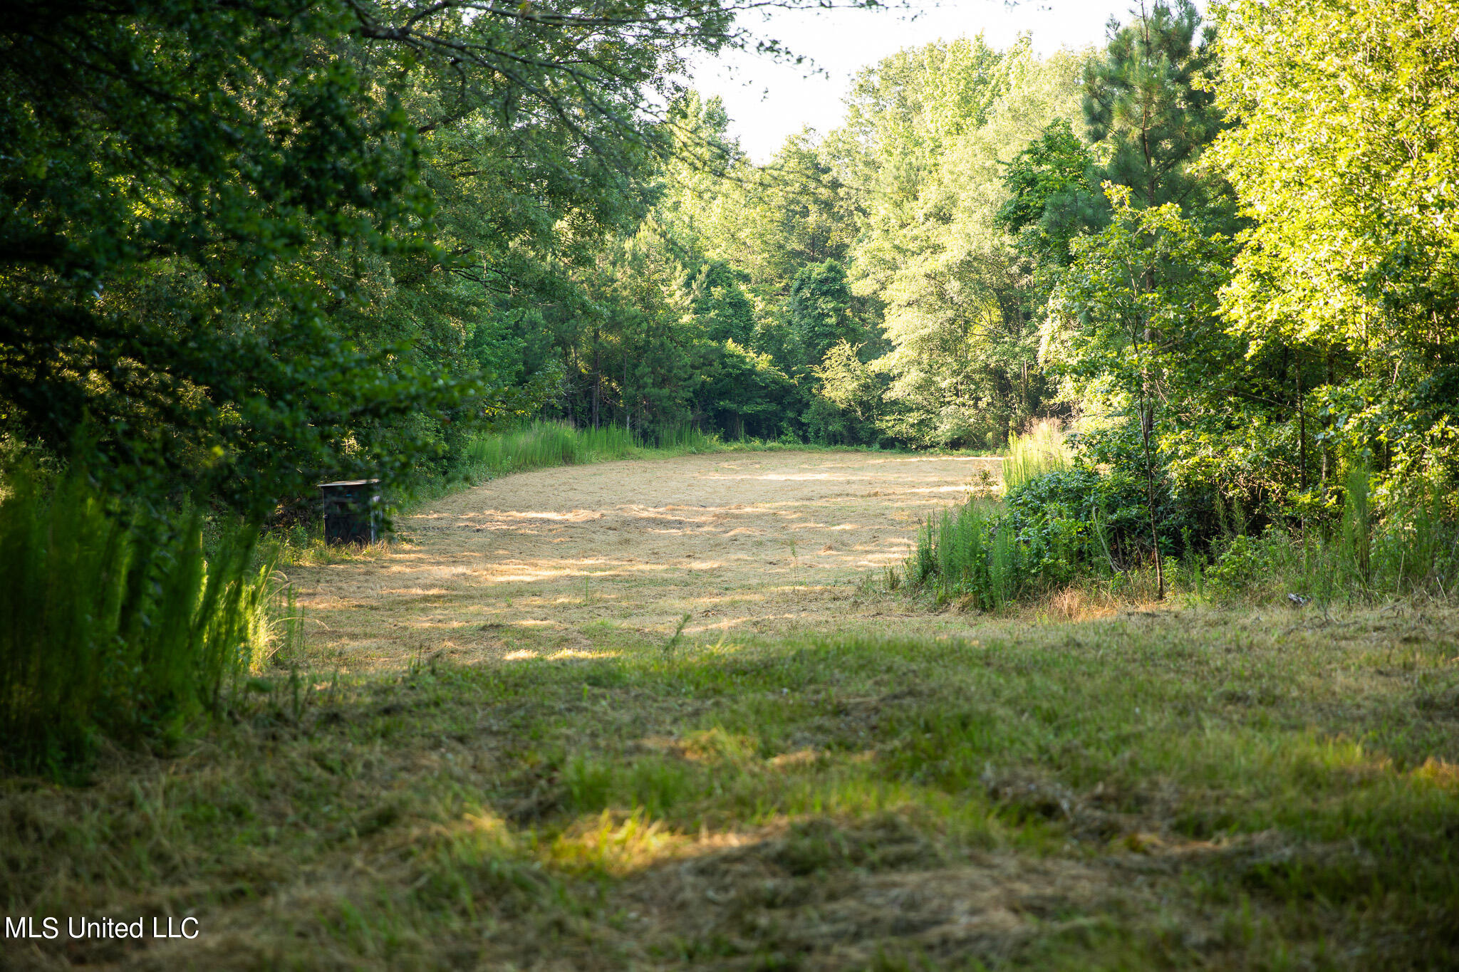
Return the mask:
M 1077 420 L 1148 519 L 1322 516 L 1354 465 L 1455 482 L 1453 3 L 929 44 L 766 165 L 673 80 L 776 50 L 735 13 L 29 4 L 0 26 L 10 450 L 251 513 L 446 475 L 525 415 L 975 449 Z

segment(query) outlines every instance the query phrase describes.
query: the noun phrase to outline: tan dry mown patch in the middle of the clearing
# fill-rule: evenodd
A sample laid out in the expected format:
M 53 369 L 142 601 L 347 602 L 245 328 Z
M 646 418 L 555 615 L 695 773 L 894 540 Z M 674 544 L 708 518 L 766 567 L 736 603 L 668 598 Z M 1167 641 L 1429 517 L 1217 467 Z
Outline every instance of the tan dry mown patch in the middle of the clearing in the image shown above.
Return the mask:
M 524 472 L 403 517 L 369 558 L 296 567 L 312 660 L 352 672 L 594 656 L 687 638 L 963 630 L 858 584 L 998 459 L 770 452 Z

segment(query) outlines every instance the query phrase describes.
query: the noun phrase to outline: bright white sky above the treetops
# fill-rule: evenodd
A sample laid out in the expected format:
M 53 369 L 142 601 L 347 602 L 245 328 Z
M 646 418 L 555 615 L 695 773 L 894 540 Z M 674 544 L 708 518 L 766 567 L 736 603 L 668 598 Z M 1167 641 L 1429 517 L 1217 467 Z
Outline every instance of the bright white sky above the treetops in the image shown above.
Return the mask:
M 1013 6 L 1004 0 L 943 0 L 934 6 L 912 0 L 910 10 L 750 12 L 741 15 L 744 26 L 808 55 L 826 74 L 808 76 L 804 66 L 731 54 L 699 61 L 692 83 L 705 96 L 724 99 L 731 134 L 751 160 L 765 163 L 786 136 L 804 125 L 821 134 L 839 125 L 852 74 L 902 48 L 980 31 L 996 48 L 1029 32 L 1039 54 L 1064 47 L 1078 50 L 1102 45 L 1110 15 L 1123 20 L 1131 6 L 1138 4 L 1139 0 L 1024 0 Z

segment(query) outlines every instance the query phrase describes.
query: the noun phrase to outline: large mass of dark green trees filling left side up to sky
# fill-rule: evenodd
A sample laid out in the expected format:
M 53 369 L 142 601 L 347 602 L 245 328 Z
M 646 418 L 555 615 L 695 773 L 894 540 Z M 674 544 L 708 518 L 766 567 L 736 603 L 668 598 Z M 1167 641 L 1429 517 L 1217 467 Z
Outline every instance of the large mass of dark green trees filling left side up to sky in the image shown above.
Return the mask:
M 0 424 L 61 450 L 89 417 L 108 485 L 248 510 L 414 468 L 502 407 L 471 335 L 531 354 L 512 322 L 576 319 L 575 274 L 673 152 L 652 105 L 689 50 L 753 42 L 734 15 L 25 4 L 0 23 Z

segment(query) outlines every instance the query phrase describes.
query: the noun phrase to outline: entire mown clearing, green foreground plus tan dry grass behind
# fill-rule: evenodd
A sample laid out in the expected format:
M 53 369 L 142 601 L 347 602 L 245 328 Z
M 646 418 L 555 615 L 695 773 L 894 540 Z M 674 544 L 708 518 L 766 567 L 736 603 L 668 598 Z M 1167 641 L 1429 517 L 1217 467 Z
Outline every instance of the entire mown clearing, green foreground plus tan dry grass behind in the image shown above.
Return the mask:
M 298 573 L 231 723 L 0 784 L 7 915 L 201 936 L 3 965 L 1453 968 L 1459 611 L 878 587 L 967 468 L 524 474 Z

